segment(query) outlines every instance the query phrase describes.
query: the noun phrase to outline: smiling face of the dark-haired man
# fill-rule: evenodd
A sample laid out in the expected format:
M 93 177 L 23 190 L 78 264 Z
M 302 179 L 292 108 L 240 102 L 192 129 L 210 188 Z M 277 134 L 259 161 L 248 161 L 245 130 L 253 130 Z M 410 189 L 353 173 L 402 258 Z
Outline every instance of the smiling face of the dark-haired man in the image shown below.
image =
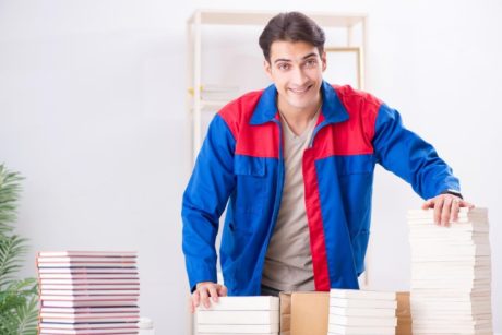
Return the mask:
M 297 111 L 319 106 L 325 52 L 319 55 L 318 48 L 306 41 L 276 40 L 264 67 L 277 87 L 279 106 Z

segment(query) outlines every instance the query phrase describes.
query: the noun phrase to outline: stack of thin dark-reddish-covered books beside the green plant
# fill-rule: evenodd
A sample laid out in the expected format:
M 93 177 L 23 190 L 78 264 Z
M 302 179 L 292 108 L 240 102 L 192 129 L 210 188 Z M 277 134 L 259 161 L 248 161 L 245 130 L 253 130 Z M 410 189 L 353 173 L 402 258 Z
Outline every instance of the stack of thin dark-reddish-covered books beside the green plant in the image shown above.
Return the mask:
M 39 252 L 37 268 L 39 335 L 139 333 L 135 252 Z

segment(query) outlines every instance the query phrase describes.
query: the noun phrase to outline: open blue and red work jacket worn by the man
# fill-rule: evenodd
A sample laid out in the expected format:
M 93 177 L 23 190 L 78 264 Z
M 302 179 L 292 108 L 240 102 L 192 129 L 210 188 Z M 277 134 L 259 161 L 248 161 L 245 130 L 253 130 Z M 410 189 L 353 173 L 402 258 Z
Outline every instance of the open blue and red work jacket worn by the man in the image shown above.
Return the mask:
M 364 271 L 375 164 L 423 199 L 458 179 L 398 112 L 350 86 L 323 82 L 323 104 L 303 153 L 304 202 L 316 290 L 358 288 Z M 227 206 L 220 265 L 230 296 L 260 295 L 284 186 L 277 91 L 241 96 L 210 124 L 183 194 L 183 252 L 190 287 L 216 282 L 215 239 Z

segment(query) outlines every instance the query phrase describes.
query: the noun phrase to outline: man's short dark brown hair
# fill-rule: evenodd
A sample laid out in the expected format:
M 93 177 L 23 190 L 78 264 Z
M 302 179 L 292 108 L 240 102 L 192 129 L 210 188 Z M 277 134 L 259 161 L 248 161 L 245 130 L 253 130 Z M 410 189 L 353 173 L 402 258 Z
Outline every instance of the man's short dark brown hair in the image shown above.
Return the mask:
M 271 46 L 276 40 L 306 41 L 318 48 L 319 55 L 324 51 L 324 31 L 309 16 L 300 12 L 280 13 L 268 21 L 259 44 L 263 56 L 270 62 Z

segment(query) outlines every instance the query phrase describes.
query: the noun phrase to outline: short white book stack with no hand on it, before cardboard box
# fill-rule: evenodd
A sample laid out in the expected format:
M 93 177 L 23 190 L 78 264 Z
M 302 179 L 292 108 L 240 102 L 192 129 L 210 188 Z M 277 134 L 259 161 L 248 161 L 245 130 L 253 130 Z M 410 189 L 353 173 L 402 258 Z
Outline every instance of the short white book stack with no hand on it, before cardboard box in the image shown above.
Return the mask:
M 395 292 L 332 289 L 328 334 L 394 335 Z

